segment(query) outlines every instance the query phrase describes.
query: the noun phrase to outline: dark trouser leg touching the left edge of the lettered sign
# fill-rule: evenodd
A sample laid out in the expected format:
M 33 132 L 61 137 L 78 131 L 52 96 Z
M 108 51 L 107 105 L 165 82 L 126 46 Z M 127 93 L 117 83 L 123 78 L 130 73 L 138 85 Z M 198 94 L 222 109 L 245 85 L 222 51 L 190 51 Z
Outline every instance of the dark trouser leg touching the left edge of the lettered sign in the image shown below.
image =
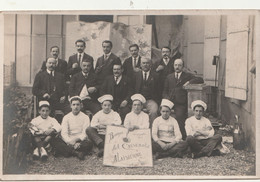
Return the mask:
M 99 148 L 104 148 L 105 135 L 100 135 L 96 128 L 88 127 L 86 133 L 89 139 Z

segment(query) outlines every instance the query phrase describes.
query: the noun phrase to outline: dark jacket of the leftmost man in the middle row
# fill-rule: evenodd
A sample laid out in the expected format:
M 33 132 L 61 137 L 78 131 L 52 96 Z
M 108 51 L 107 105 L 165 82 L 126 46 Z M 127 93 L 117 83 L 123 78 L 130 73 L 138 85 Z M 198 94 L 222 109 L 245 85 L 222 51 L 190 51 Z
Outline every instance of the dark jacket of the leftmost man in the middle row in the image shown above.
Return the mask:
M 54 78 L 45 71 L 37 73 L 34 79 L 32 93 L 37 96 L 39 100 L 44 100 L 43 95 L 48 93 L 51 100 L 59 101 L 62 96 L 65 96 L 65 79 L 63 74 L 55 71 Z

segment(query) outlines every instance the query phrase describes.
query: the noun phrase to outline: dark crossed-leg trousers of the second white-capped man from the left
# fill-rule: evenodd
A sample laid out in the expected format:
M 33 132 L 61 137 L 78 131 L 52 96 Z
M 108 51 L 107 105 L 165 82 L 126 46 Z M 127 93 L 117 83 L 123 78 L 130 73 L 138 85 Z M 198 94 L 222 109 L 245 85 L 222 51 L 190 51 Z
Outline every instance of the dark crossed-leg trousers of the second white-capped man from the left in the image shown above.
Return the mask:
M 83 154 L 86 155 L 93 147 L 93 143 L 91 141 L 84 140 L 80 142 L 80 147 L 75 150 L 73 146 L 67 145 L 60 137 L 54 138 L 51 144 L 55 155 L 62 155 L 64 157 L 73 156 L 75 152 L 83 152 Z

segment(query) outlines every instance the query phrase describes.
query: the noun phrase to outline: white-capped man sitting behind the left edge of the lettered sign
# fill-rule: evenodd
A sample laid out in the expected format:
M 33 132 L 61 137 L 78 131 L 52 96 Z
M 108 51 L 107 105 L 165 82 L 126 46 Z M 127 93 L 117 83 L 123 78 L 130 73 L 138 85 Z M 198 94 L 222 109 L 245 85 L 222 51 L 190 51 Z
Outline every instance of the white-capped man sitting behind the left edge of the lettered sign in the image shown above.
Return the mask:
M 93 116 L 91 126 L 87 128 L 86 133 L 98 147 L 98 157 L 102 157 L 107 126 L 121 125 L 122 121 L 119 114 L 112 110 L 112 95 L 103 95 L 98 98 L 98 101 L 101 103 L 102 110 Z

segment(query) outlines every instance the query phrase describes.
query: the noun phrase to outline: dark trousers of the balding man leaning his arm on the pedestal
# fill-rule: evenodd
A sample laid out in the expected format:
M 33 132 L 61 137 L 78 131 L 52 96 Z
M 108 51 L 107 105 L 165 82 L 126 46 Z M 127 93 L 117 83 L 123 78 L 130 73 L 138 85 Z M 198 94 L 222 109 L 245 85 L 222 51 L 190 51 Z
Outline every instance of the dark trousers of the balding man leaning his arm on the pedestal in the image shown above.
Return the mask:
M 180 131 L 182 134 L 182 139 L 185 140 L 187 137 L 186 130 L 185 130 L 185 121 L 188 117 L 188 110 L 186 105 L 174 105 L 174 114 L 173 117 L 177 120 L 178 125 L 180 127 Z

